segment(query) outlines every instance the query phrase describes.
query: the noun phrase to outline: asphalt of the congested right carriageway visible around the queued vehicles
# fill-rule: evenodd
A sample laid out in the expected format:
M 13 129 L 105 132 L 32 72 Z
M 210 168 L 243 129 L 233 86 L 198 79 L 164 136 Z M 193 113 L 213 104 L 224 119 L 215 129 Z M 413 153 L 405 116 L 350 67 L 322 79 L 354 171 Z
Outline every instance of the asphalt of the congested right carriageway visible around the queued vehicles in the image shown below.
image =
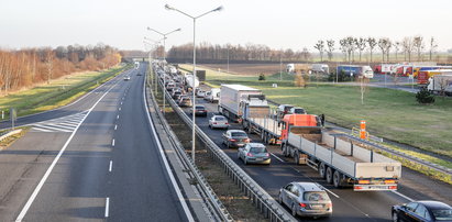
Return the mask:
M 206 106 L 209 111 L 208 116 L 218 111 L 216 103 L 212 104 L 202 99 L 197 99 L 197 104 Z M 185 111 L 187 114 L 189 113 L 188 108 Z M 312 168 L 293 164 L 293 159 L 283 157 L 279 146 L 269 147 L 269 151 L 273 153 L 271 166 L 245 166 L 238 159 L 235 148 L 227 148 L 221 144 L 221 134 L 224 130 L 209 129 L 208 118 L 198 116 L 196 122 L 231 159 L 241 166 L 275 199 L 279 188 L 290 181 L 315 181 L 326 187 L 333 201 L 333 215 L 330 219 L 312 221 L 388 221 L 390 220 L 392 206 L 409 202 L 412 199 L 433 199 L 449 204 L 452 203 L 452 187 L 450 185 L 432 180 L 405 167 L 398 191 L 355 192 L 350 188 L 337 189 L 321 179 Z M 234 123 L 231 126 L 231 129 L 241 129 L 239 124 Z M 251 138 L 253 142 L 261 142 L 257 135 L 252 134 Z M 288 208 L 286 209 L 290 212 Z

